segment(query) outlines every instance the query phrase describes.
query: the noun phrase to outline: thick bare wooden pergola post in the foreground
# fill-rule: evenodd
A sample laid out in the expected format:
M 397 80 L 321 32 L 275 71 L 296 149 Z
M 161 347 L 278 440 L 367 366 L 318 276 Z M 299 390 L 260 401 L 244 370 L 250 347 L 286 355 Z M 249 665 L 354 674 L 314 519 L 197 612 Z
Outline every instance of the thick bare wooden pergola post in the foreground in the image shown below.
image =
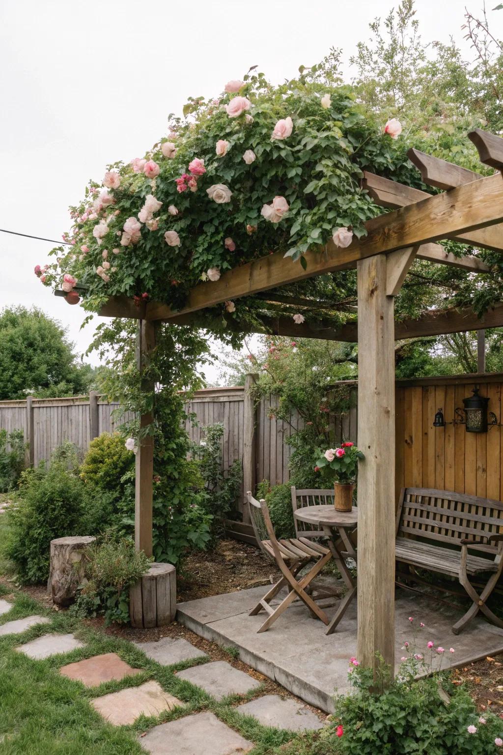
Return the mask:
M 376 653 L 394 671 L 394 297 L 387 258 L 357 263 L 358 642 L 360 664 Z

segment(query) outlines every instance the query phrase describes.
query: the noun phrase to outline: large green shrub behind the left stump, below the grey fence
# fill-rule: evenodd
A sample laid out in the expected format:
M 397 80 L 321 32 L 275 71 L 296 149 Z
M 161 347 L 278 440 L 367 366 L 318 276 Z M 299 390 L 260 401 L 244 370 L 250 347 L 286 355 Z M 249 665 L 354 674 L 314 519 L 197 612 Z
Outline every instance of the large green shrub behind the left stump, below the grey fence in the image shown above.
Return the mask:
M 26 470 L 20 492 L 8 507 L 10 536 L 6 555 L 21 582 L 47 581 L 51 540 L 81 532 L 84 485 L 63 464 Z

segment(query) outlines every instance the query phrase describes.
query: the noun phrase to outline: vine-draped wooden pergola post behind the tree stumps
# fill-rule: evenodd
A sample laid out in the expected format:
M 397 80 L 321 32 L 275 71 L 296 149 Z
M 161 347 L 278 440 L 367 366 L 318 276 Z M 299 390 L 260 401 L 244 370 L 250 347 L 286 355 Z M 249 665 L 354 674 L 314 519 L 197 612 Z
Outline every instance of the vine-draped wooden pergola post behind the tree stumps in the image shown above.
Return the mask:
M 149 354 L 155 347 L 155 325 L 139 320 L 136 333 L 136 367 L 140 374 L 148 364 Z M 142 375 L 142 391 L 154 393 L 154 381 Z M 153 412 L 140 416 L 140 430 L 154 421 Z M 154 476 L 154 436 L 146 435 L 138 440 L 136 451 L 136 477 L 134 496 L 134 544 L 136 550 L 152 556 L 152 485 Z

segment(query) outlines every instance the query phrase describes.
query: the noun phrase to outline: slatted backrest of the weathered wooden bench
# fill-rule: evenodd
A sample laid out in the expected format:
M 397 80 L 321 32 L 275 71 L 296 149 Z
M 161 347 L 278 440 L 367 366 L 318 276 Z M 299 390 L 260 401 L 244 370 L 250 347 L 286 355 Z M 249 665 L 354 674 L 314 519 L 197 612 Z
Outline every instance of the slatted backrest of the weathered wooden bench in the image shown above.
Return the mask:
M 455 544 L 465 539 L 499 535 L 503 503 L 431 488 L 402 488 L 397 535 Z M 497 544 L 471 545 L 470 550 L 497 553 Z

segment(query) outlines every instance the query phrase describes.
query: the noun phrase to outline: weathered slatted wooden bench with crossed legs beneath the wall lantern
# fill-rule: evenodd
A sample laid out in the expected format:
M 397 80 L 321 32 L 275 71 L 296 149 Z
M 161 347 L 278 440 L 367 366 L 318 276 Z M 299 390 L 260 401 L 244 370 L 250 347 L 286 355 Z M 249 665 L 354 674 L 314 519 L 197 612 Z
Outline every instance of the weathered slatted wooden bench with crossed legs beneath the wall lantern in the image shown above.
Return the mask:
M 459 579 L 473 603 L 452 627 L 455 634 L 479 611 L 503 628 L 503 621 L 486 606 L 503 569 L 502 556 L 501 501 L 430 488 L 402 488 L 397 510 L 397 561 L 412 569 L 428 569 Z M 480 593 L 471 584 L 474 577 L 485 583 Z

